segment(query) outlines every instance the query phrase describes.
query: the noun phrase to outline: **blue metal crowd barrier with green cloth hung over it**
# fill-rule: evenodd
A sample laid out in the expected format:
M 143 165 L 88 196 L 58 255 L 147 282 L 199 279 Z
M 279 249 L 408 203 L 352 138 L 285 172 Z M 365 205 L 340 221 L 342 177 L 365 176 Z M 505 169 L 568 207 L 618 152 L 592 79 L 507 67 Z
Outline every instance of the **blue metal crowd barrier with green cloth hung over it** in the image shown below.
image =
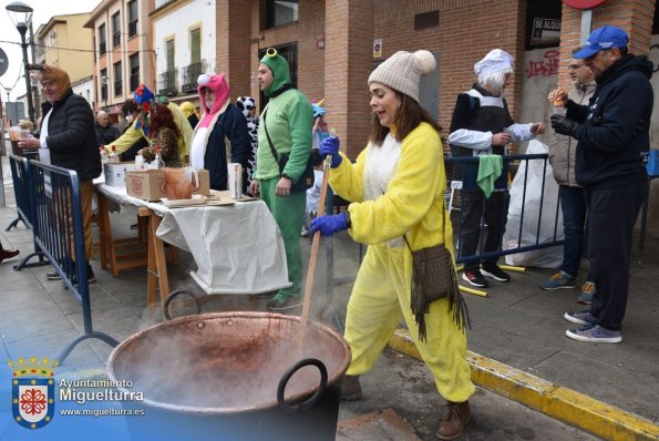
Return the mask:
M 507 221 L 507 215 L 508 215 L 508 197 L 507 197 L 507 191 L 509 187 L 509 183 L 508 183 L 508 177 L 509 177 L 509 172 L 513 167 L 513 165 L 518 165 L 519 163 L 526 163 L 526 167 L 524 167 L 525 170 L 525 176 L 524 176 L 524 186 L 523 186 L 523 198 L 522 198 L 522 214 L 521 214 L 521 218 L 519 218 L 519 228 L 516 232 L 516 246 L 509 246 L 511 245 L 511 240 L 508 240 L 507 245 L 507 249 L 498 249 L 497 252 L 491 252 L 491 253 L 484 253 L 483 252 L 483 232 L 486 230 L 486 224 L 485 224 L 485 216 L 481 216 L 481 236 L 478 238 L 478 246 L 476 248 L 476 253 L 472 256 L 462 256 L 461 254 L 461 244 L 462 244 L 462 235 L 463 235 L 463 213 L 464 211 L 462 209 L 462 204 L 463 204 L 463 199 L 462 197 L 460 198 L 460 218 L 459 218 L 459 223 L 457 223 L 457 228 L 454 228 L 454 232 L 457 232 L 456 235 L 454 235 L 454 240 L 457 242 L 456 247 L 455 247 L 455 261 L 457 264 L 465 264 L 465 263 L 472 263 L 472 261 L 481 261 L 484 259 L 490 259 L 490 258 L 496 258 L 496 257 L 501 257 L 501 256 L 506 256 L 506 255 L 511 255 L 511 254 L 517 254 L 517 253 L 525 253 L 525 252 L 531 252 L 531 250 L 536 250 L 536 249 L 542 249 L 542 248 L 548 248 L 548 247 L 553 247 L 553 246 L 557 246 L 557 245 L 563 245 L 563 239 L 558 239 L 558 234 L 557 234 L 557 228 L 558 228 L 558 219 L 559 219 L 559 214 L 560 214 L 560 202 L 557 201 L 556 206 L 552 207 L 552 213 L 553 213 L 553 218 L 554 218 L 554 225 L 553 225 L 553 237 L 549 240 L 540 240 L 539 238 L 539 232 L 540 232 L 540 226 L 543 223 L 543 206 L 544 206 L 544 194 L 545 194 L 545 177 L 546 177 L 546 173 L 543 172 L 543 181 L 542 181 L 542 189 L 540 189 L 540 194 L 543 195 L 540 197 L 539 201 L 539 208 L 538 208 L 538 216 L 537 216 L 537 223 L 533 226 L 528 226 L 528 227 L 534 227 L 536 230 L 536 235 L 535 235 L 535 240 L 532 244 L 527 244 L 527 245 L 523 245 L 523 240 L 522 240 L 522 232 L 525 227 L 524 225 L 524 213 L 525 213 L 525 205 L 526 205 L 526 193 L 527 193 L 527 184 L 528 184 L 528 164 L 531 161 L 543 161 L 543 171 L 546 171 L 547 168 L 547 161 L 548 161 L 548 155 L 547 154 L 529 154 L 529 155 L 506 155 L 506 156 L 502 156 L 503 158 L 503 171 L 502 171 L 502 175 L 500 176 L 500 178 L 496 181 L 495 184 L 495 191 L 500 191 L 500 192 L 506 192 L 506 197 L 502 198 L 502 204 L 504 204 L 504 207 L 502 209 L 502 216 L 503 218 L 501 219 L 502 225 L 504 225 L 504 228 L 502 228 L 502 237 L 500 237 L 500 243 L 503 239 L 503 234 L 506 230 L 505 226 L 506 226 L 506 221 Z M 462 182 L 462 189 L 461 189 L 461 194 L 462 192 L 468 192 L 468 191 L 473 191 L 477 188 L 477 183 L 476 183 L 476 176 L 478 174 L 478 157 L 477 156 L 468 156 L 468 157 L 446 157 L 444 158 L 444 163 L 446 164 L 446 168 L 447 168 L 447 181 L 449 184 L 446 185 L 447 191 L 451 191 L 451 172 L 453 171 L 454 167 L 461 167 L 464 171 L 464 177 L 465 180 Z M 455 187 L 455 186 L 454 186 Z M 446 197 L 446 199 L 449 199 L 449 197 Z M 451 197 L 452 199 L 452 197 Z M 485 201 L 483 201 L 483 205 L 485 205 Z M 485 207 L 483 207 L 483 213 L 485 213 Z M 513 232 L 515 233 L 515 232 Z M 508 234 L 511 234 L 511 232 L 508 232 Z M 515 240 L 513 240 L 515 242 Z

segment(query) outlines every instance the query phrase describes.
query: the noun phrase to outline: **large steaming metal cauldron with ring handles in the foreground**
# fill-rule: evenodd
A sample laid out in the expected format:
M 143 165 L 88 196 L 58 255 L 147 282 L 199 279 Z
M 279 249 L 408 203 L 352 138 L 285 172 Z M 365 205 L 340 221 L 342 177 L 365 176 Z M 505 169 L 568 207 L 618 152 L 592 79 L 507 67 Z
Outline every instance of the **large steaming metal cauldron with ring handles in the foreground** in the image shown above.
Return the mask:
M 326 326 L 268 312 L 186 316 L 144 329 L 107 360 L 120 391 L 143 392 L 133 440 L 333 441 L 346 341 Z M 326 373 L 325 373 L 326 372 Z M 327 380 L 327 382 L 326 382 Z

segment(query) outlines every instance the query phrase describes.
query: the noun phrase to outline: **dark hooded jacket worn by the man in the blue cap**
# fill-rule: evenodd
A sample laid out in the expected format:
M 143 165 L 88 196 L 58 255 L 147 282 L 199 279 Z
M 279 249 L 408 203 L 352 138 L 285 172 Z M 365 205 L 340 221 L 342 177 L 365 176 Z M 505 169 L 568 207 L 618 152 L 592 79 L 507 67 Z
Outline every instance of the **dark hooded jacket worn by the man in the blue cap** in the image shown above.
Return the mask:
M 627 185 L 647 180 L 641 153 L 650 147 L 652 63 L 625 55 L 597 80 L 589 105 L 567 104 L 567 117 L 581 123 L 575 172 L 585 188 Z

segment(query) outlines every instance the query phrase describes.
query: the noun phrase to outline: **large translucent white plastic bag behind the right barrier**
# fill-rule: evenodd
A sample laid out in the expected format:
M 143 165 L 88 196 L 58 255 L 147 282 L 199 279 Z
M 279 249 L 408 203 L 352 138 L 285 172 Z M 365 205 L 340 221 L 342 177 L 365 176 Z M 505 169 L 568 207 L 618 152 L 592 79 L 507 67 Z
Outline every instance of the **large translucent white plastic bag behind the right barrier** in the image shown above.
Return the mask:
M 547 145 L 537 140 L 528 143 L 526 154 L 547 153 Z M 552 165 L 547 162 L 544 170 L 545 188 L 543 192 L 543 160 L 522 161 L 517 174 L 511 185 L 511 203 L 508 206 L 508 221 L 503 238 L 504 249 L 514 249 L 523 246 L 535 245 L 536 236 L 538 244 L 554 240 L 563 240 L 563 213 L 558 207 L 558 184 L 552 174 Z M 528 171 L 526 170 L 528 167 Z M 524 181 L 526 178 L 526 195 L 524 195 Z M 522 221 L 522 202 L 524 201 L 524 223 L 519 236 L 519 224 Z M 539 224 L 538 215 L 543 216 Z M 556 211 L 558 218 L 556 221 Z M 556 236 L 554 229 L 556 225 Z M 519 239 L 519 243 L 517 240 Z M 557 268 L 563 261 L 563 246 L 535 249 L 531 252 L 511 254 L 506 256 L 506 264 L 524 267 Z

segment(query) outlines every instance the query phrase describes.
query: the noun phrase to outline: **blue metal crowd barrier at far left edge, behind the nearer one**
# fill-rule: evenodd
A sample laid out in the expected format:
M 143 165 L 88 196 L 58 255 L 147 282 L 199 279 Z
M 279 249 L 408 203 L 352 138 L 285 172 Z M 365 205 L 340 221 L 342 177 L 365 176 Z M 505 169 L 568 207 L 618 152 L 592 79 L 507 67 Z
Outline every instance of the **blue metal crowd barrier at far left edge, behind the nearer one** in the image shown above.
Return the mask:
M 11 167 L 11 178 L 13 181 L 13 194 L 16 196 L 18 217 L 9 224 L 6 232 L 9 232 L 17 226 L 19 222 L 22 222 L 28 229 L 34 230 L 32 225 L 34 215 L 33 186 L 30 184 L 30 166 L 28 158 L 9 154 L 9 166 Z M 38 257 L 39 261 L 28 264 L 28 260 L 32 257 Z M 48 265 L 48 260 L 44 259 L 43 253 L 39 249 L 37 243 L 34 243 L 34 253 L 23 257 L 21 263 L 16 265 L 13 269 L 20 271 L 23 268 L 43 265 Z

